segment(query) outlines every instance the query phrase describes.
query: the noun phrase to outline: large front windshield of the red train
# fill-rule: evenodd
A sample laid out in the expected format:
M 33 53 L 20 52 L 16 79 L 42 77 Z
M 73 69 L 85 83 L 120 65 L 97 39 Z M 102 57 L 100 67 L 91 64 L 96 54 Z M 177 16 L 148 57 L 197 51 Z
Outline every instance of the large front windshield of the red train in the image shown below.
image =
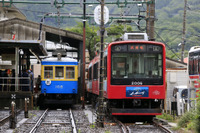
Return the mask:
M 163 84 L 161 53 L 112 53 L 111 84 Z

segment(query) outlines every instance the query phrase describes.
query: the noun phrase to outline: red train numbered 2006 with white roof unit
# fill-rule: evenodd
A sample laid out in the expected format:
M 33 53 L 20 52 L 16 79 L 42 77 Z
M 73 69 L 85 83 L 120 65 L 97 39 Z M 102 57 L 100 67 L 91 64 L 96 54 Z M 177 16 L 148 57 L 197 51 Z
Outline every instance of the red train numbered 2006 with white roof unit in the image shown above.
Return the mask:
M 165 45 L 125 33 L 104 51 L 104 98 L 112 115 L 161 115 L 166 94 Z M 88 67 L 87 95 L 97 102 L 100 56 Z

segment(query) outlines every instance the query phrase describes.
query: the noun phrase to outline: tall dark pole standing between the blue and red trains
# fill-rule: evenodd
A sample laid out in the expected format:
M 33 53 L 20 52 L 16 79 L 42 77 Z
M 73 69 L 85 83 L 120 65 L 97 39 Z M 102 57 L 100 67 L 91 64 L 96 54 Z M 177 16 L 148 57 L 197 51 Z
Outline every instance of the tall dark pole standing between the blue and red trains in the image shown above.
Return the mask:
M 103 50 L 104 50 L 104 0 L 101 0 L 101 25 L 100 25 L 100 33 L 101 33 L 101 47 L 100 47 L 100 80 L 99 80 L 99 107 L 97 114 L 97 126 L 104 127 L 104 97 L 103 97 Z

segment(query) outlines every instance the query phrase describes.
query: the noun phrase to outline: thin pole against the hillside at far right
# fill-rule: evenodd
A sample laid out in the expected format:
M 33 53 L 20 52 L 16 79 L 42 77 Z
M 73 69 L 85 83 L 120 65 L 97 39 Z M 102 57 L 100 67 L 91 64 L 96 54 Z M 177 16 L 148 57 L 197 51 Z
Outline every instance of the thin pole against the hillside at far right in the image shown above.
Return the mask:
M 182 32 L 182 43 L 181 43 L 181 61 L 184 61 L 184 49 L 185 49 L 185 31 L 186 31 L 186 11 L 187 11 L 187 0 L 185 0 L 184 13 L 183 13 L 183 32 Z

